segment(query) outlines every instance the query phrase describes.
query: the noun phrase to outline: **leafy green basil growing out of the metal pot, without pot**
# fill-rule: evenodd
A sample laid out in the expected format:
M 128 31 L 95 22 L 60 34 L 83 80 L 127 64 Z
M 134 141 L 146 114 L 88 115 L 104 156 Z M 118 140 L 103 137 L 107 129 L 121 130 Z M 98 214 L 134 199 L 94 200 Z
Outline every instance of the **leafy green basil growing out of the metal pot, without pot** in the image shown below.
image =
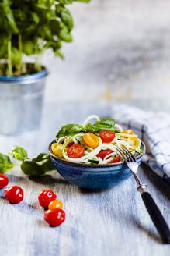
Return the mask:
M 48 49 L 63 59 L 61 44 L 72 41 L 74 25 L 65 5 L 89 1 L 0 0 L 0 75 L 41 71 L 43 52 Z M 23 55 L 34 55 L 36 64 L 26 65 Z

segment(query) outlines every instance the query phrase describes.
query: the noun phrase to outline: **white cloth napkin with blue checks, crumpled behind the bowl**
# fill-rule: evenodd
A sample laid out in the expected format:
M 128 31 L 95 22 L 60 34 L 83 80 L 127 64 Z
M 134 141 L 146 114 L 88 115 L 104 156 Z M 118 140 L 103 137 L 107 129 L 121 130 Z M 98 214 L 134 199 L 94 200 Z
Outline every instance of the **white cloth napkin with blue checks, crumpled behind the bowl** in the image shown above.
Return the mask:
M 170 116 L 128 105 L 112 108 L 112 117 L 123 129 L 132 129 L 144 141 L 147 151 L 142 161 L 170 182 Z

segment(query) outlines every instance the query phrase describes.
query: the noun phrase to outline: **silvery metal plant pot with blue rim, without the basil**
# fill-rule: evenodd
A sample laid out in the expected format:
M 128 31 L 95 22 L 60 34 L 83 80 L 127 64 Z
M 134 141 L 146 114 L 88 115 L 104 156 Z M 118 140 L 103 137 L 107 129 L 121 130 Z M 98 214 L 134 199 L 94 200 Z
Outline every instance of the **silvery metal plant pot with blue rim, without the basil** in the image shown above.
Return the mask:
M 0 76 L 0 133 L 16 135 L 40 127 L 47 70 Z

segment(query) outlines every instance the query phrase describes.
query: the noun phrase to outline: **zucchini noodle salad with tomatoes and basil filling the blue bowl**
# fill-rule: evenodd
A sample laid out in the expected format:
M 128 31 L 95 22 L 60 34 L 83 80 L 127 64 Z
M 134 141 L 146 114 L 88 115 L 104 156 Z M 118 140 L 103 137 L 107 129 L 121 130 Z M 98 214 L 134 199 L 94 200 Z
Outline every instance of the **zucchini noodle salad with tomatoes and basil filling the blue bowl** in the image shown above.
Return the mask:
M 91 119 L 97 121 L 89 123 Z M 116 148 L 127 148 L 134 155 L 141 152 L 141 140 L 133 130 L 123 130 L 114 119 L 88 116 L 82 123 L 62 126 L 56 134 L 52 152 L 68 162 L 84 164 L 112 164 L 123 158 Z

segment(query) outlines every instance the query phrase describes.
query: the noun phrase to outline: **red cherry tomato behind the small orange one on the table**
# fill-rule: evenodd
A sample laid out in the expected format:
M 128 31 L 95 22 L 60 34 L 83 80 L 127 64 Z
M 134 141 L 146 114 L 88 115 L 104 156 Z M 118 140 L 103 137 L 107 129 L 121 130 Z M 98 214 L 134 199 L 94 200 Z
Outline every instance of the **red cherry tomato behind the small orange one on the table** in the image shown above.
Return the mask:
M 48 208 L 48 204 L 57 198 L 56 194 L 52 190 L 43 190 L 38 196 L 40 206 Z

